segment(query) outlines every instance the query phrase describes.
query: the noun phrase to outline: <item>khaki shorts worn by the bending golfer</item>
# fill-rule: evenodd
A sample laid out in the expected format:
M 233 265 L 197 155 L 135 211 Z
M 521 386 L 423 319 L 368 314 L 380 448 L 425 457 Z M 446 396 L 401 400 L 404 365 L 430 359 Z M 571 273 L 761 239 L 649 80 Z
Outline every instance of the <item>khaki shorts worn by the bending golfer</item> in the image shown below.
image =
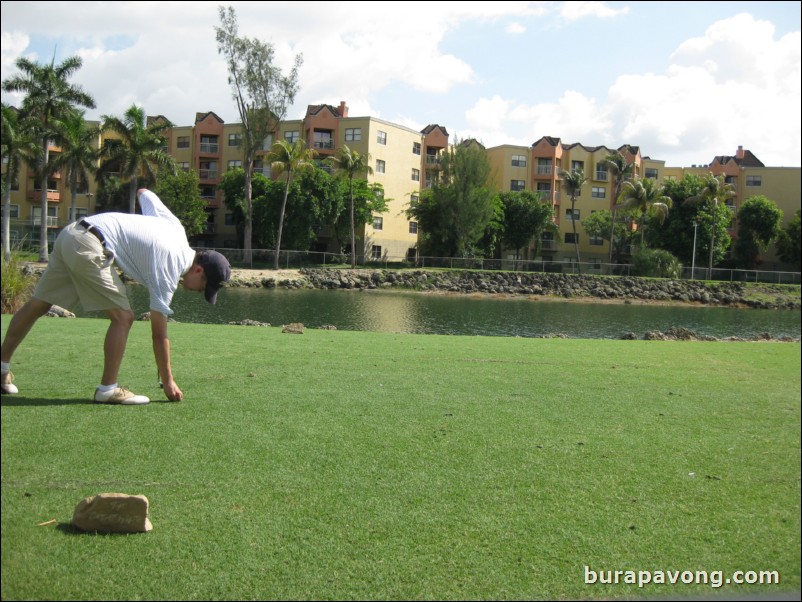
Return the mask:
M 94 234 L 70 224 L 56 238 L 33 296 L 66 309 L 79 302 L 85 311 L 131 309 L 113 259 Z

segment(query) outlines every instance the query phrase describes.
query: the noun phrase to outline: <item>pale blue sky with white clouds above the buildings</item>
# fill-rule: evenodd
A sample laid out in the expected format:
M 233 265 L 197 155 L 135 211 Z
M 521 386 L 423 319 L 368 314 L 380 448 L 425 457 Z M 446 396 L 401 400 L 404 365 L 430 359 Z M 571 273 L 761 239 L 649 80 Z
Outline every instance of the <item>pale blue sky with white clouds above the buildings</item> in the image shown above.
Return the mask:
M 639 146 L 667 166 L 751 150 L 800 167 L 800 2 L 2 2 L 2 80 L 26 57 L 82 59 L 70 78 L 96 102 L 179 126 L 239 122 L 218 53 L 218 9 L 275 49 L 309 105 L 349 107 L 487 148 Z M 21 97 L 3 92 L 3 102 Z

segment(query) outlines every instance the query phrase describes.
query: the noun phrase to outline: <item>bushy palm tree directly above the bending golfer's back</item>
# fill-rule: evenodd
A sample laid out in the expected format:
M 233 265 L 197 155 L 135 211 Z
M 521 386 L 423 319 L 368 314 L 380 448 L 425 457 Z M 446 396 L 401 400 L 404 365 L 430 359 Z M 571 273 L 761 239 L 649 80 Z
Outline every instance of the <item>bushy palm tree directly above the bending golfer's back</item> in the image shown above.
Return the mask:
M 167 152 L 164 137 L 173 124 L 166 119 L 148 121 L 145 110 L 136 105 L 131 105 L 123 119 L 110 115 L 103 115 L 102 119 L 101 130 L 113 132 L 119 139 L 109 140 L 103 147 L 100 171 L 119 171 L 123 179 L 129 180 L 128 212 L 136 213 L 139 176 L 155 181 L 159 169 L 176 172 L 175 160 Z

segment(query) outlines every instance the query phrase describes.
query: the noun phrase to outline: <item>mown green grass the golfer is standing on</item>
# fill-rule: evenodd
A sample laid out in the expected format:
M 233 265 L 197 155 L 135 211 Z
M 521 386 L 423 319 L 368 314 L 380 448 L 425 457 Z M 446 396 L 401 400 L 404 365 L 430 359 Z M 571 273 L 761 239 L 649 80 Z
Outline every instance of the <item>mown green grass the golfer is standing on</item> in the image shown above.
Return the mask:
M 14 358 L 3 599 L 800 589 L 798 344 L 173 324 L 185 401 L 105 407 L 87 401 L 105 327 L 42 320 Z M 146 323 L 122 384 L 159 396 Z M 153 531 L 73 532 L 101 492 L 146 495 Z M 585 567 L 780 584 L 586 584 Z

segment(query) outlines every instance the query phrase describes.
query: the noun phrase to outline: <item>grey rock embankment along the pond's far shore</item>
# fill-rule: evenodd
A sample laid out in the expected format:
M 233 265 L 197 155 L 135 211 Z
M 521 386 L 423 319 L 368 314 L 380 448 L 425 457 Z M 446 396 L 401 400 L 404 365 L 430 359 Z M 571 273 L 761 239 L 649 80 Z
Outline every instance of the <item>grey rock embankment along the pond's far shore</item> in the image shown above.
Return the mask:
M 282 277 L 283 276 L 283 277 Z M 302 268 L 278 278 L 235 271 L 228 286 L 312 289 L 398 289 L 430 293 L 526 295 L 554 299 L 623 303 L 683 303 L 754 309 L 796 309 L 800 297 L 790 297 L 778 285 L 762 286 L 764 297 L 748 298 L 742 282 L 592 276 L 532 272 L 369 270 Z M 773 296 L 773 298 L 772 298 Z

